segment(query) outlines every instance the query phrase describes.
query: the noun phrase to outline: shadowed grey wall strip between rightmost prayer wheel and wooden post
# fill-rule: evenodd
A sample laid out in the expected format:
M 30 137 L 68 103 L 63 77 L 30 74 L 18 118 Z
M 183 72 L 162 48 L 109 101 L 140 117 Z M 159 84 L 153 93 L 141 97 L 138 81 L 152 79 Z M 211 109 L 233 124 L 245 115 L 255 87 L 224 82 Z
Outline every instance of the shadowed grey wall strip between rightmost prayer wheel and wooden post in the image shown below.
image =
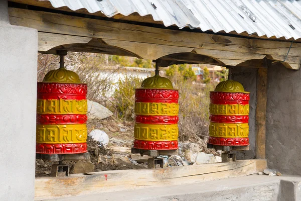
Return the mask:
M 239 67 L 232 70 L 232 79 L 240 82 L 245 91 L 250 92 L 250 113 L 249 113 L 249 141 L 250 151 L 236 152 L 238 159 L 255 158 L 256 139 L 256 88 L 257 88 L 257 68 Z

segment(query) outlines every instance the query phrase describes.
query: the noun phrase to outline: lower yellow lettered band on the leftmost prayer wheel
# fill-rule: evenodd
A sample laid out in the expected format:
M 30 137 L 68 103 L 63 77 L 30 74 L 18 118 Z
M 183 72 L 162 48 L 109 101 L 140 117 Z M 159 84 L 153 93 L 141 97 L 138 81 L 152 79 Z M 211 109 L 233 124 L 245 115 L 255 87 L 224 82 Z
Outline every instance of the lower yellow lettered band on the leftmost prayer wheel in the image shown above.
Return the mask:
M 37 124 L 37 143 L 71 144 L 87 141 L 86 124 L 43 125 Z

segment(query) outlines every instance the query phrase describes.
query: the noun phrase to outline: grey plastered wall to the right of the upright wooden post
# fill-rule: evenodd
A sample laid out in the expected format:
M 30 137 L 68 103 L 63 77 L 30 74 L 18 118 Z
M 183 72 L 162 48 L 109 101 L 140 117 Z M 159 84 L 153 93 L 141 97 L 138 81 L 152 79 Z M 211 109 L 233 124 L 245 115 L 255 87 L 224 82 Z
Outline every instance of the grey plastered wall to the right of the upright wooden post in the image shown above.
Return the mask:
M 266 159 L 269 168 L 301 175 L 301 71 L 268 69 Z

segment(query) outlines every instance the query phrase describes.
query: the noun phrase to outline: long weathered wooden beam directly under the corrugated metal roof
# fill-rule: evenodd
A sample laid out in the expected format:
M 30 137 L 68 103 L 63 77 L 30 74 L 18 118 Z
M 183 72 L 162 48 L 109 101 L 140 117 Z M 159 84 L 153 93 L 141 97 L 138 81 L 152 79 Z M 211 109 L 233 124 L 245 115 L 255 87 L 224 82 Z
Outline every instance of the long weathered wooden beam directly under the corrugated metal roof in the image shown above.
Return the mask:
M 99 38 L 104 41 L 111 40 L 111 43 L 114 41 L 115 44 L 120 43 L 118 47 L 131 49 L 129 51 L 144 44 L 144 52 L 140 54 L 142 54 L 142 58 L 148 59 L 158 59 L 156 57 L 159 55 L 168 55 L 171 52 L 170 47 L 174 46 L 175 49 L 187 49 L 188 52 L 192 48 L 196 53 L 214 58 L 225 65 L 238 65 L 246 60 L 263 59 L 266 56 L 270 56 L 274 60 L 282 59 L 286 56 L 291 44 L 290 42 L 159 29 L 15 8 L 9 9 L 9 15 L 12 25 L 31 27 L 39 32 Z M 125 44 L 130 45 L 125 47 Z M 160 50 L 160 54 L 155 54 L 158 47 L 162 50 Z M 149 53 L 152 53 L 154 57 L 151 58 Z M 284 63 L 288 68 L 299 69 L 301 63 L 300 43 L 292 44 L 289 56 Z

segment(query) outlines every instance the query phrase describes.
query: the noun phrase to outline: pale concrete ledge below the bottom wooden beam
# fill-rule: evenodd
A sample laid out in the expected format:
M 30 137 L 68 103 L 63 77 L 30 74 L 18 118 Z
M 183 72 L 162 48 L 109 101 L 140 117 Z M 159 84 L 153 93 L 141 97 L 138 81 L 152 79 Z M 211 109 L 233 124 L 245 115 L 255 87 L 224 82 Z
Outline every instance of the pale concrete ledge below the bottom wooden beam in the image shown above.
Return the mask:
M 298 186 L 301 177 L 250 175 L 194 184 L 149 187 L 47 199 L 49 201 L 290 201 L 301 200 Z

